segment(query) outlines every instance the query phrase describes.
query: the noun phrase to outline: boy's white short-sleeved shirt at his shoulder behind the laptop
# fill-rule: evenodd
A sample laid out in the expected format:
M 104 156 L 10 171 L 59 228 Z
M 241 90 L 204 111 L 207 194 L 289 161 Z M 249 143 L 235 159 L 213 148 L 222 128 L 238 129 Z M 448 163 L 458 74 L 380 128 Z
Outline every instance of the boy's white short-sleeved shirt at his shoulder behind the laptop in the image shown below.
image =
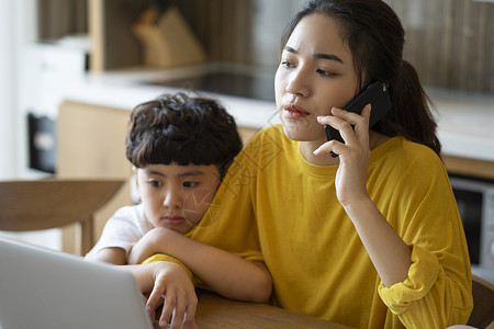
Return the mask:
M 132 246 L 150 229 L 153 226 L 147 220 L 142 204 L 124 206 L 108 219 L 100 239 L 86 254 L 86 259 L 96 257 L 104 248 L 122 248 L 127 257 Z

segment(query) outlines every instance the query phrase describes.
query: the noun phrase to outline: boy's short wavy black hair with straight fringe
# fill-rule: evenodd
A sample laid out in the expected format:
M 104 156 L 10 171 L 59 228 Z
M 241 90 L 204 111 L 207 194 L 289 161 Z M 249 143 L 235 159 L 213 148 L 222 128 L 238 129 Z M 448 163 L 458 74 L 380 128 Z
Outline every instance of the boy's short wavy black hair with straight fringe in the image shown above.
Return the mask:
M 242 149 L 235 120 L 215 100 L 164 94 L 131 113 L 126 157 L 147 164 L 216 164 L 221 178 Z

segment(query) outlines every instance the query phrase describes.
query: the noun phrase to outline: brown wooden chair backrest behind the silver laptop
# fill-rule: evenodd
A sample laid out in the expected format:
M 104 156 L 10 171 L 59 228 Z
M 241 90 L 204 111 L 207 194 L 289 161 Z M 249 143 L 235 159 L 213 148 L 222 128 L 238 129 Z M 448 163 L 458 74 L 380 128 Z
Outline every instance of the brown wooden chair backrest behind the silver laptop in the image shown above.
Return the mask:
M 42 230 L 78 223 L 76 253 L 83 256 L 96 242 L 94 212 L 123 183 L 123 180 L 0 181 L 0 230 Z

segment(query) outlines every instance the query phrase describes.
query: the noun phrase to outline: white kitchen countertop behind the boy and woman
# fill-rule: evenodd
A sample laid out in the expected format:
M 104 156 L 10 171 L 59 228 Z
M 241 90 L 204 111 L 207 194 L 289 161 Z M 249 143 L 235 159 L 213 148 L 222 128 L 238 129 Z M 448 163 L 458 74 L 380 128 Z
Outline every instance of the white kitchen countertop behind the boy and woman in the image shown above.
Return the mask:
M 224 66 L 221 66 L 225 69 Z M 156 68 L 128 68 L 117 71 L 91 73 L 67 88 L 64 99 L 102 106 L 132 110 L 138 103 L 155 99 L 161 93 L 179 89 L 153 86 L 146 82 L 177 79 L 217 70 L 218 65 L 160 70 Z M 245 72 L 249 68 L 227 67 Z M 259 69 L 260 75 L 272 75 Z M 494 95 L 438 88 L 425 88 L 436 106 L 438 135 L 444 154 L 463 158 L 494 161 Z M 279 123 L 271 101 L 202 92 L 218 99 L 235 117 L 237 125 L 261 128 Z

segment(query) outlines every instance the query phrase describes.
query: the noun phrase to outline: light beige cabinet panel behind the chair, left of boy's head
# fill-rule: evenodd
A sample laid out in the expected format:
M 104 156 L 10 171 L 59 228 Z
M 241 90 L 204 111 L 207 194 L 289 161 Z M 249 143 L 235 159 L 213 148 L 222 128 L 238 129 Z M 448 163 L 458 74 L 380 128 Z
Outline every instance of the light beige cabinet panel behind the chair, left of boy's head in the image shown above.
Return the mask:
M 116 178 L 126 183 L 94 214 L 99 238 L 106 219 L 121 206 L 132 203 L 128 178 L 132 167 L 125 159 L 125 128 L 128 111 L 64 102 L 57 121 L 57 175 L 59 178 Z M 75 195 L 83 197 L 83 195 Z M 63 229 L 61 248 L 74 253 L 76 228 Z

